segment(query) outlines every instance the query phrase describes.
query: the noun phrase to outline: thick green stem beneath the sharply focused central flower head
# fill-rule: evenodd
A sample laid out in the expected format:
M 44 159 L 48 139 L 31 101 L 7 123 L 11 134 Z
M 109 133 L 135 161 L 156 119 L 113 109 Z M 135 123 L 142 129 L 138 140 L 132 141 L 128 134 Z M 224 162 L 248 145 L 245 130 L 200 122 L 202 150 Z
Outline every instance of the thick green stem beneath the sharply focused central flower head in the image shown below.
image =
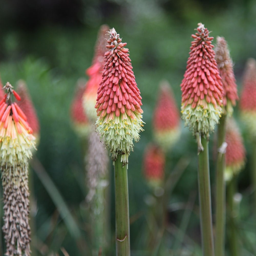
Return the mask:
M 130 256 L 130 220 L 127 164 L 123 166 L 121 155 L 115 164 L 115 233 L 116 255 Z

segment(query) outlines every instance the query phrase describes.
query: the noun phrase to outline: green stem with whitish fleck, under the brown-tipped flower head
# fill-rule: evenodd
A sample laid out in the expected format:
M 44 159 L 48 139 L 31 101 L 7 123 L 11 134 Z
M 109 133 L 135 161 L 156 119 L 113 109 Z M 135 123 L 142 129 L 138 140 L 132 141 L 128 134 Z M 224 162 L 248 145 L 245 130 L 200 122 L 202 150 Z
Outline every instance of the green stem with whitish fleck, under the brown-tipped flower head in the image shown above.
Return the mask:
M 216 234 L 215 253 L 223 256 L 225 253 L 225 222 L 226 222 L 226 186 L 224 171 L 226 168 L 226 154 L 221 149 L 226 138 L 226 116 L 222 115 L 218 125 L 218 155 L 216 170 Z

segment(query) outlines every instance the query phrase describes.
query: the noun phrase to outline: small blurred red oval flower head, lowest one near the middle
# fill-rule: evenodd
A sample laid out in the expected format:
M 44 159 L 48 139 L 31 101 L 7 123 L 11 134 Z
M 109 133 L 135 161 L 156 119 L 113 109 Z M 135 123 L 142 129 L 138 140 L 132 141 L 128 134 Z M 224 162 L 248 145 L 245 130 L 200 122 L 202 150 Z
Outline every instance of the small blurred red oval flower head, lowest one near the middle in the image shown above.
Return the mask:
M 164 178 L 165 155 L 160 147 L 150 144 L 143 157 L 143 173 L 146 180 L 155 186 L 161 185 Z

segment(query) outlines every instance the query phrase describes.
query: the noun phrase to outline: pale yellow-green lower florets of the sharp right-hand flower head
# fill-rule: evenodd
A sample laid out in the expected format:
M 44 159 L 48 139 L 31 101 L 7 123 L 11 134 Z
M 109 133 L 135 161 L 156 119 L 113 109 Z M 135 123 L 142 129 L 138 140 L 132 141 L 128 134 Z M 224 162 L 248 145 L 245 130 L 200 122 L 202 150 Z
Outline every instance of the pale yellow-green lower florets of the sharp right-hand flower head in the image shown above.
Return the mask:
M 208 134 L 214 131 L 215 125 L 221 117 L 221 107 L 215 108 L 213 104 L 205 102 L 205 105 L 198 105 L 192 108 L 191 104 L 181 107 L 182 119 L 185 126 L 195 135 L 197 132 Z

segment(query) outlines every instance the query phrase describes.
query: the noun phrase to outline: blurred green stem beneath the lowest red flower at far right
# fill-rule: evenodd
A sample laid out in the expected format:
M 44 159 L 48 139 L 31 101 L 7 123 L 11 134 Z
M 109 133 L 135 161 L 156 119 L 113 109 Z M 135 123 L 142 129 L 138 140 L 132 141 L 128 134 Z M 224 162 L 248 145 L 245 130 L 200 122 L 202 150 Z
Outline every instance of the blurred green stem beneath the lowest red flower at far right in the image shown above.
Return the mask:
M 236 212 L 234 207 L 234 194 L 236 193 L 236 177 L 227 183 L 227 214 L 228 214 L 228 243 L 232 256 L 239 256 L 238 239 L 236 230 Z

